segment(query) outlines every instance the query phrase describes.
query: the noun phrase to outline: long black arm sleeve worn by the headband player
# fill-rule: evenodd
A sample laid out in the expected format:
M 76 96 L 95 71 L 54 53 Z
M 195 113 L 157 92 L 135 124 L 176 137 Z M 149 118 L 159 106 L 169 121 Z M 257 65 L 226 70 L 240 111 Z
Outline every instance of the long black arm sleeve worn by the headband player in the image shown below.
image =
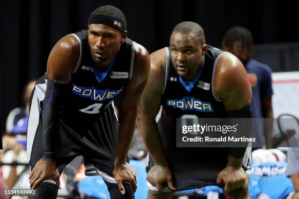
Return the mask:
M 47 82 L 42 112 L 43 159 L 45 160 L 55 160 L 59 93 L 63 85 L 49 79 Z

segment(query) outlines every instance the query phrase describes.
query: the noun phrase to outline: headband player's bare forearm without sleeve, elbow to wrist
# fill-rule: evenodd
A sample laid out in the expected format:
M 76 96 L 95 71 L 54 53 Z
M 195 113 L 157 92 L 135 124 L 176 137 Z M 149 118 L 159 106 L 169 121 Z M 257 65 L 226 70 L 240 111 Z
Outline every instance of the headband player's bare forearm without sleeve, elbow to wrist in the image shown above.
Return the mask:
M 138 106 L 130 109 L 123 110 L 120 117 L 120 126 L 118 131 L 118 144 L 117 153 L 115 159 L 115 166 L 126 163 L 128 150 L 131 146 L 131 142 L 136 127 L 136 117 L 138 112 Z

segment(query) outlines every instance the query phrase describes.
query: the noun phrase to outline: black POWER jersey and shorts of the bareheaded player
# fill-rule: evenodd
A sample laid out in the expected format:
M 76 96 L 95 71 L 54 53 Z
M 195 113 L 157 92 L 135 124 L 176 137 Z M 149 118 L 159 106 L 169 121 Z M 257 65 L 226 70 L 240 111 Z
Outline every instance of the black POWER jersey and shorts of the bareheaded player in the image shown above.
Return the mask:
M 227 52 L 208 46 L 202 70 L 193 81 L 184 81 L 171 63 L 170 49 L 165 49 L 165 87 L 156 120 L 176 188 L 215 184 L 218 173 L 227 164 L 228 148 L 176 148 L 176 119 L 228 118 L 213 91 L 215 65 Z

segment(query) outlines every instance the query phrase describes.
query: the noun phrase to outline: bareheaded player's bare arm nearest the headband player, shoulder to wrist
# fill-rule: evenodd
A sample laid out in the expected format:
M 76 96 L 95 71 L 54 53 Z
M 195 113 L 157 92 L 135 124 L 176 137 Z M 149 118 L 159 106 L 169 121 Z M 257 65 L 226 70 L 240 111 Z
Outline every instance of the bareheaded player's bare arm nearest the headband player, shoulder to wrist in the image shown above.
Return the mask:
M 155 121 L 161 106 L 165 81 L 166 51 L 160 49 L 150 55 L 149 82 L 141 99 L 138 129 L 156 165 L 168 166 L 162 140 Z

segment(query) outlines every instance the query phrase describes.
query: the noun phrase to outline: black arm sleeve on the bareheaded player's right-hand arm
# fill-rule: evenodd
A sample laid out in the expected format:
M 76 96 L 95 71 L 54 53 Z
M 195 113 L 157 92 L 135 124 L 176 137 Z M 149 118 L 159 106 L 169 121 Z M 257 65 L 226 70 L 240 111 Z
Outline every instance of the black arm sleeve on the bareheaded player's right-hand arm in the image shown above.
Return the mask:
M 228 111 L 230 118 L 252 118 L 252 112 L 250 108 L 250 104 L 246 105 L 245 107 L 234 110 L 234 111 Z M 251 129 L 248 129 L 248 132 L 251 132 Z M 233 158 L 242 158 L 245 154 L 246 147 L 231 147 L 229 154 Z

